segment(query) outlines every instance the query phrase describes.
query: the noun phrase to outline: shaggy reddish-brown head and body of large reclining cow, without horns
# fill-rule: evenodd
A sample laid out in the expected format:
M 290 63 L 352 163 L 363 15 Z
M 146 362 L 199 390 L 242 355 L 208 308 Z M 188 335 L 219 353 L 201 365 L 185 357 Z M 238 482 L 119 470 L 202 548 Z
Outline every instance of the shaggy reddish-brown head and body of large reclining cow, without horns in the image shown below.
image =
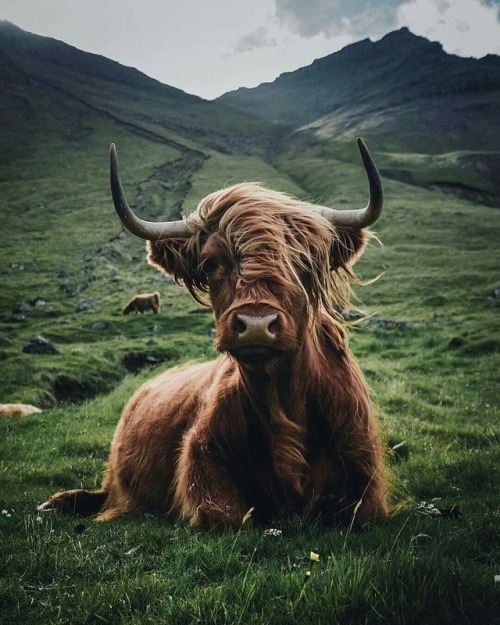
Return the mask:
M 139 389 L 102 489 L 41 508 L 155 510 L 206 528 L 238 527 L 251 507 L 262 521 L 384 517 L 381 444 L 337 313 L 369 234 L 254 184 L 208 196 L 190 223 L 190 238 L 148 243 L 148 260 L 212 307 L 221 355 Z M 246 340 L 242 319 L 268 327 Z

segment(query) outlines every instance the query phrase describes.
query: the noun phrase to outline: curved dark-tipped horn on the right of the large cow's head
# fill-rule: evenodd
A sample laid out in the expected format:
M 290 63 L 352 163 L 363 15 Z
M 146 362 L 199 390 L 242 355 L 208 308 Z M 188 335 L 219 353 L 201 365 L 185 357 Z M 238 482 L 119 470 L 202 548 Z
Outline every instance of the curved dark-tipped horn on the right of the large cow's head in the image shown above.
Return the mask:
M 361 152 L 363 165 L 368 176 L 370 197 L 365 208 L 355 210 L 335 210 L 333 208 L 318 207 L 320 214 L 335 226 L 350 226 L 352 228 L 366 228 L 377 221 L 384 205 L 384 189 L 368 148 L 363 139 L 358 138 L 358 148 Z

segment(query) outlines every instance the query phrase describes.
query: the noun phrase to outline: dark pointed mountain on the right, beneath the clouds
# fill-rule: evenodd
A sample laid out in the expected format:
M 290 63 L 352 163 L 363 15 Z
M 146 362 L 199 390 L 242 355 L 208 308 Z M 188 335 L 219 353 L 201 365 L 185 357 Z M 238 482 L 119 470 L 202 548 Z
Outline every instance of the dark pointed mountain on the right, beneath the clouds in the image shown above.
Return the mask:
M 228 92 L 217 101 L 298 129 L 336 111 L 359 109 L 357 117 L 366 119 L 377 108 L 418 100 L 434 104 L 435 98 L 453 95 L 483 96 L 481 104 L 497 115 L 500 57 L 449 55 L 441 44 L 403 28 L 377 42 L 365 39 L 346 46 L 272 83 Z

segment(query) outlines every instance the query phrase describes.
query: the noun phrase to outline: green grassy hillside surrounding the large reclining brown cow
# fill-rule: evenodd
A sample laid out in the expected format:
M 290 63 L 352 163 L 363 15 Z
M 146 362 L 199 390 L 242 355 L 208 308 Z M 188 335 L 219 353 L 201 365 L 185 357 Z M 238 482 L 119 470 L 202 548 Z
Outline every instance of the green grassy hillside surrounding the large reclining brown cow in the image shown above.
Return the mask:
M 287 138 L 170 88 L 138 91 L 137 76 L 86 59 L 97 88 L 85 63 L 55 71 L 37 50 L 36 63 L 20 52 L 16 67 L 0 63 L 0 401 L 44 408 L 0 420 L 0 622 L 498 623 L 500 212 L 426 188 L 436 168 L 475 184 L 446 135 L 426 154 L 368 135 L 382 171 L 407 172 L 384 178 L 382 245 L 358 265 L 378 277 L 356 290 L 371 318 L 351 333 L 389 450 L 391 518 L 358 533 L 290 519 L 216 534 L 149 515 L 36 513 L 57 490 L 100 484 L 143 381 L 214 356 L 210 313 L 121 231 L 111 141 L 125 191 L 150 219 L 240 180 L 338 208 L 366 202 L 348 136 Z M 152 290 L 160 315 L 121 314 Z M 58 353 L 23 352 L 38 335 Z

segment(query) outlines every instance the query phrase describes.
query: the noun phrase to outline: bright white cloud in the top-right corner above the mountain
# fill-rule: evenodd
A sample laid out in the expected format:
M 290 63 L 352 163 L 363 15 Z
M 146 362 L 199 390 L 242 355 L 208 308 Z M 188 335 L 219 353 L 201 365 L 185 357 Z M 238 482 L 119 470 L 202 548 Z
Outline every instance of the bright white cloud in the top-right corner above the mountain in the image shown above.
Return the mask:
M 411 0 L 398 8 L 398 27 L 441 42 L 451 54 L 500 54 L 498 6 L 499 0 Z

